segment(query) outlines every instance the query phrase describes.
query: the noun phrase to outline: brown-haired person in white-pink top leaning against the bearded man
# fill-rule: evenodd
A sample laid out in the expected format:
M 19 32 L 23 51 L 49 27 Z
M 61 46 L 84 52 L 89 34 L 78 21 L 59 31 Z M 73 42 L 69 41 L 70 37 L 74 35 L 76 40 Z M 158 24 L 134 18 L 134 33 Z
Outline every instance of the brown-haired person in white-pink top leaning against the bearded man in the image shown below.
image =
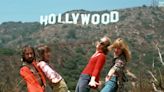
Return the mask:
M 64 79 L 49 65 L 51 57 L 50 48 L 46 45 L 40 45 L 37 47 L 37 54 L 40 59 L 38 66 L 47 77 L 53 92 L 67 92 L 68 88 Z

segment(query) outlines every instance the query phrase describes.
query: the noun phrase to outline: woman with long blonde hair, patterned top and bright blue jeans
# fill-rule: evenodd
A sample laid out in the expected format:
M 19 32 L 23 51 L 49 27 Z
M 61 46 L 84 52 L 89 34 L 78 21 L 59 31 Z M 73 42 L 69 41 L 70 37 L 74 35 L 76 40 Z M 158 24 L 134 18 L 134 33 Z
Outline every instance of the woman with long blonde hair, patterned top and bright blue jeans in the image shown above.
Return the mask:
M 118 89 L 122 89 L 123 82 L 127 81 L 125 66 L 131 59 L 131 52 L 122 38 L 117 38 L 108 47 L 108 50 L 114 50 L 114 59 L 105 78 L 105 86 L 101 92 L 116 92 Z

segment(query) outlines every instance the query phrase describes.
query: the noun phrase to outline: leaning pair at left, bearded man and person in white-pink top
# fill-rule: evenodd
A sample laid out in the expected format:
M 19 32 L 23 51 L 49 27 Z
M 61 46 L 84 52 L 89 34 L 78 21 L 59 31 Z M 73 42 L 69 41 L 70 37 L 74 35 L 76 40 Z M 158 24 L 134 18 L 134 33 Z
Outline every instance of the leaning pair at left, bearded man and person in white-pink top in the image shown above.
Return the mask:
M 51 50 L 46 45 L 40 45 L 36 51 L 31 46 L 22 49 L 23 65 L 20 75 L 25 80 L 28 92 L 45 92 L 47 84 L 53 92 L 67 92 L 68 87 L 51 65 L 49 65 Z

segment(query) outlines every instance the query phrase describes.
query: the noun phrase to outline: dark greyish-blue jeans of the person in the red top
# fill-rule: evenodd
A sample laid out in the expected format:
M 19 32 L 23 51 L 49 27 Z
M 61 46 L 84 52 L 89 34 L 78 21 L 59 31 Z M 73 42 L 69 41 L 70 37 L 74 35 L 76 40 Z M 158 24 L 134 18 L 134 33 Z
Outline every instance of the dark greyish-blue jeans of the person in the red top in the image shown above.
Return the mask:
M 88 84 L 90 79 L 91 77 L 89 75 L 81 74 L 75 92 L 89 92 L 90 86 Z

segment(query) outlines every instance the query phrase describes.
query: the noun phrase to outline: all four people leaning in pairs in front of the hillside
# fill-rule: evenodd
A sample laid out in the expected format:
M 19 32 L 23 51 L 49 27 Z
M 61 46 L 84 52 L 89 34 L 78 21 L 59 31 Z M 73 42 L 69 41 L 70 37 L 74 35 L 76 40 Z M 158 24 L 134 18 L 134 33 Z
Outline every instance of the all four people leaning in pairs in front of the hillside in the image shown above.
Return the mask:
M 111 43 L 107 36 L 102 37 L 96 43 L 96 51 L 82 71 L 75 92 L 90 92 L 92 88 L 96 89 L 101 85 L 101 70 L 108 52 L 112 50 L 114 54 L 112 64 L 109 67 L 101 92 L 122 92 L 123 83 L 127 81 L 125 76 L 126 64 L 131 59 L 131 53 L 122 38 L 117 38 Z M 30 46 L 23 48 L 23 66 L 20 69 L 20 75 L 27 84 L 28 92 L 45 92 L 45 86 L 48 84 L 53 92 L 68 92 L 68 87 L 62 76 L 49 64 L 50 55 L 51 50 L 46 45 L 38 46 L 36 51 Z

